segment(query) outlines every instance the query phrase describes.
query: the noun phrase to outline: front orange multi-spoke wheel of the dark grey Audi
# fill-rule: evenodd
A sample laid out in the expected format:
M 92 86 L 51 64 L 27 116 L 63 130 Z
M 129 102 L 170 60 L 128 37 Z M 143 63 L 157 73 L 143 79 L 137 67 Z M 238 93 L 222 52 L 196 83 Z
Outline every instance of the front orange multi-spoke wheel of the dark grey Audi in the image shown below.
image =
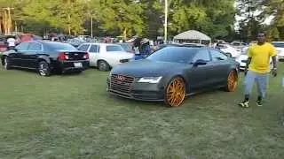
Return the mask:
M 170 107 L 178 107 L 185 100 L 185 81 L 180 77 L 170 80 L 166 87 L 164 102 Z

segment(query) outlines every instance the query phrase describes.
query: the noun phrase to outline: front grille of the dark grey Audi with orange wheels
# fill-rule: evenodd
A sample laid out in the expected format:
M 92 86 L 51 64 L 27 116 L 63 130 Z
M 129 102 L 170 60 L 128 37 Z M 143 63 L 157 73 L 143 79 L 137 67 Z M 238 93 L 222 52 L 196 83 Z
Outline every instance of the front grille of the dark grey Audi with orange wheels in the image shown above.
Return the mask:
M 130 93 L 133 87 L 134 79 L 135 78 L 130 76 L 112 74 L 110 88 L 122 93 Z

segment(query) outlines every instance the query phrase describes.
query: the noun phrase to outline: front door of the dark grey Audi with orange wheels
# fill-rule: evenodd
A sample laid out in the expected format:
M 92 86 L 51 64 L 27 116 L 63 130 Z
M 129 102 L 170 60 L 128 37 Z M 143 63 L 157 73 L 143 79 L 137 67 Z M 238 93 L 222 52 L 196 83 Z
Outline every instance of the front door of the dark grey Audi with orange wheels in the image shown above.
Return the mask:
M 206 64 L 194 66 L 193 64 L 196 63 L 198 60 L 202 60 Z M 198 49 L 191 61 L 191 64 L 193 66 L 187 72 L 191 91 L 196 91 L 198 89 L 209 87 L 212 82 L 210 80 L 210 76 L 212 75 L 212 73 L 210 72 L 212 64 L 209 56 L 209 50 Z

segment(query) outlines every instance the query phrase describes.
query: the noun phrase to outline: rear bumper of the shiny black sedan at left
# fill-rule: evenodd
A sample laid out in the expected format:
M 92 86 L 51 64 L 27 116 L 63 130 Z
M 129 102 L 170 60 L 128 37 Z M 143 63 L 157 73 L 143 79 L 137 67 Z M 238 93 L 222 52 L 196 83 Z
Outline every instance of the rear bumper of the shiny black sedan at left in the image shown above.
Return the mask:
M 75 63 L 81 63 L 82 67 L 75 67 Z M 61 72 L 82 72 L 89 68 L 89 64 L 89 60 L 59 61 L 55 69 L 59 69 Z

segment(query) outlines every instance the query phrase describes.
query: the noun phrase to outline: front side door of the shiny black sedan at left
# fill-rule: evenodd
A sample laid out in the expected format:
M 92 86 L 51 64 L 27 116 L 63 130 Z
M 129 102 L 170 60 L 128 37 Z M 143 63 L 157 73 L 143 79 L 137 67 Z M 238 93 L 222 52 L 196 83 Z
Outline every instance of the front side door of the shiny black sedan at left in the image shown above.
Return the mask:
M 12 59 L 12 65 L 18 67 L 24 67 L 23 54 L 28 51 L 29 42 L 22 42 L 16 46 L 15 53 L 9 55 L 9 58 Z

